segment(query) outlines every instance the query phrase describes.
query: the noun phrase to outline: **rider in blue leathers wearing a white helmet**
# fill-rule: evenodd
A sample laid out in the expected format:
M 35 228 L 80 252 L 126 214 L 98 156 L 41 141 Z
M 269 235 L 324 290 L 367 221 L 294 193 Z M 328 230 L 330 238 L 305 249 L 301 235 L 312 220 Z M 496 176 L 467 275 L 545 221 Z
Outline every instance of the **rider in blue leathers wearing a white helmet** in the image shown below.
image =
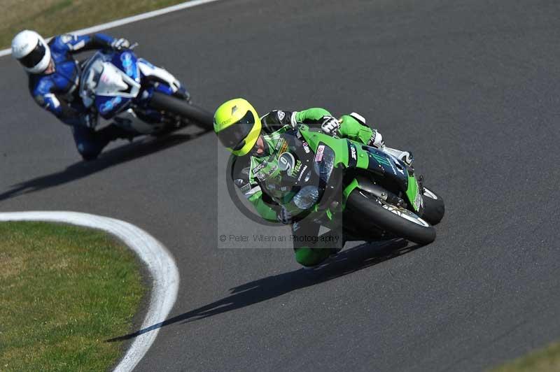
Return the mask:
M 35 31 L 21 31 L 12 41 L 12 55 L 29 75 L 29 92 L 36 103 L 72 128 L 78 152 L 91 160 L 111 141 L 132 138 L 116 124 L 95 130 L 97 114 L 83 105 L 79 92 L 80 66 L 73 58 L 86 50 L 121 50 L 130 43 L 104 34 L 55 36 L 48 43 Z

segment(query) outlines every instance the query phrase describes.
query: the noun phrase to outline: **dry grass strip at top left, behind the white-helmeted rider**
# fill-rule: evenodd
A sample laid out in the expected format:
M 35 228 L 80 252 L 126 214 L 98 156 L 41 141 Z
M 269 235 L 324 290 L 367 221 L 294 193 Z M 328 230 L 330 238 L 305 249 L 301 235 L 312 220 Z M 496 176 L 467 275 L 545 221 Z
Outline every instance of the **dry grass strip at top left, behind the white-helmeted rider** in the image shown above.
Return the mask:
M 2 0 L 0 49 L 9 48 L 13 36 L 22 29 L 34 29 L 45 37 L 54 36 L 184 1 Z

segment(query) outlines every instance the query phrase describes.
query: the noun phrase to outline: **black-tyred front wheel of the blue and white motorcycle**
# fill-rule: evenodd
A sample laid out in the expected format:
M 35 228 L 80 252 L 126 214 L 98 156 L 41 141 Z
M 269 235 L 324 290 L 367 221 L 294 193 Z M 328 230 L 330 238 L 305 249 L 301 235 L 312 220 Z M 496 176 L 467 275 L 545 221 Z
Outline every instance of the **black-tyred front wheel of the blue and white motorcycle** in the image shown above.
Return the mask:
M 207 131 L 212 130 L 214 127 L 214 115 L 209 113 L 209 111 L 174 96 L 154 92 L 150 101 L 150 106 L 156 110 L 162 110 L 167 113 L 185 117 L 198 127 L 206 129 Z

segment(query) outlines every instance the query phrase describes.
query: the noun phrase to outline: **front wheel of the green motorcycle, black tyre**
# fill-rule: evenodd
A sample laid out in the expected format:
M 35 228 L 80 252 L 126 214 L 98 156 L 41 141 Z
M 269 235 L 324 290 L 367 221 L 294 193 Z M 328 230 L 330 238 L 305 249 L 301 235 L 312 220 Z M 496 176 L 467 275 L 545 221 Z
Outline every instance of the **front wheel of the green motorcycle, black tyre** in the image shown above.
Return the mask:
M 358 213 L 356 220 L 360 221 L 360 228 L 381 229 L 421 245 L 435 240 L 435 229 L 428 222 L 360 189 L 351 192 L 346 206 L 349 212 Z

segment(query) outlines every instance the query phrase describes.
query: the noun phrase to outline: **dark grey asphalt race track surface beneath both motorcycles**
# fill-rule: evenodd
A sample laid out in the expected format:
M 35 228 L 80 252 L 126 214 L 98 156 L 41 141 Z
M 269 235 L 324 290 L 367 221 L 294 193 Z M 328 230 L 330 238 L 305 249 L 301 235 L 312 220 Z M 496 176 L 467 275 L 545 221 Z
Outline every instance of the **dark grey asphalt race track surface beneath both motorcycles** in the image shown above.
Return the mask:
M 173 252 L 179 298 L 138 371 L 485 369 L 560 338 L 559 19 L 549 0 L 228 0 L 109 31 L 207 108 L 365 115 L 446 200 L 428 246 L 361 245 L 314 273 L 290 250 L 218 249 L 262 227 L 221 206 L 213 135 L 83 164 L 9 57 L 0 209 L 108 215 Z

